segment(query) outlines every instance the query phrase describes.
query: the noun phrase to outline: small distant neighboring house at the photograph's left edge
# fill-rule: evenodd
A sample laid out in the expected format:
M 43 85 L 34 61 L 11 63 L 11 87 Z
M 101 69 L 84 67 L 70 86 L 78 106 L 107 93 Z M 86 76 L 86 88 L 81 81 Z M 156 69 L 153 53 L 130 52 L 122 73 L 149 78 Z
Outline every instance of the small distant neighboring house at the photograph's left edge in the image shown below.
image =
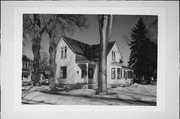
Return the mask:
M 31 80 L 31 73 L 33 70 L 33 61 L 26 55 L 22 56 L 22 78 L 25 80 Z

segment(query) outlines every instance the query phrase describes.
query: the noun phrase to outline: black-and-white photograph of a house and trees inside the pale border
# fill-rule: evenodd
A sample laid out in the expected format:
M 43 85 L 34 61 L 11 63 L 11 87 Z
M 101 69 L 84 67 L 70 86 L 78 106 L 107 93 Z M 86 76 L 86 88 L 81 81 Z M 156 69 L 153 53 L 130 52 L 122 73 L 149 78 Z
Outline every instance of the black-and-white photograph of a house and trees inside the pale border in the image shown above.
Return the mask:
M 23 14 L 22 104 L 156 106 L 157 15 Z

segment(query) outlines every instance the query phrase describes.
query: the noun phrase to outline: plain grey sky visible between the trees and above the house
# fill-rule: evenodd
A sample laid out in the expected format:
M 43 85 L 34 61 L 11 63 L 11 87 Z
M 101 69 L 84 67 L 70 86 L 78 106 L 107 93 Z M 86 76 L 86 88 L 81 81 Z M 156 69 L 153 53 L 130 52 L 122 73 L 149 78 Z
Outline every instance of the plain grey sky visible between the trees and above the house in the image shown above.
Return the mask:
M 135 15 L 114 15 L 113 17 L 113 26 L 110 41 L 116 41 L 119 49 L 121 51 L 124 65 L 128 65 L 130 47 L 130 35 L 132 28 L 137 23 L 140 16 Z M 89 27 L 87 29 L 76 29 L 73 34 L 66 34 L 67 37 L 70 37 L 75 40 L 79 40 L 84 43 L 98 44 L 100 42 L 99 38 L 99 29 L 98 29 L 98 20 L 96 15 L 88 15 L 87 23 Z M 152 23 L 157 19 L 157 16 L 143 16 L 144 22 L 149 28 L 151 40 L 157 43 L 157 23 Z M 31 50 L 31 42 L 28 41 L 29 45 L 26 45 L 24 49 L 24 54 L 29 58 L 33 59 L 33 54 Z M 41 42 L 41 53 L 47 52 L 49 48 L 49 37 L 46 33 L 42 36 Z M 47 54 L 46 53 L 46 54 Z

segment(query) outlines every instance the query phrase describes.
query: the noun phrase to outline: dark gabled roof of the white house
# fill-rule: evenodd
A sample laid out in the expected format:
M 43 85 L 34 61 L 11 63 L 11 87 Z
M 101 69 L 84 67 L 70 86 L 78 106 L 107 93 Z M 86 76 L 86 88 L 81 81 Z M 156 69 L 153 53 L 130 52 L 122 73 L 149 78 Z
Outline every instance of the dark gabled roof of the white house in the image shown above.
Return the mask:
M 65 36 L 63 36 L 63 39 L 71 50 L 77 54 L 76 61 L 99 61 L 100 44 L 89 45 Z M 116 41 L 108 43 L 108 54 L 115 43 Z

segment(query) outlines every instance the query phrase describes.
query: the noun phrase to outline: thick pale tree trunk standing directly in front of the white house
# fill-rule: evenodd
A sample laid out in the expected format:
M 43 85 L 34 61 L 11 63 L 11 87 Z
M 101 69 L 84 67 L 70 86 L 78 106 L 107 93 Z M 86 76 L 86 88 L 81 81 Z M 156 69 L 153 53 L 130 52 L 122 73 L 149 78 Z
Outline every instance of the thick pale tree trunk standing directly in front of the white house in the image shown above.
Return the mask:
M 107 48 L 111 35 L 112 20 L 112 15 L 101 15 L 98 18 L 100 34 L 98 94 L 107 94 Z

